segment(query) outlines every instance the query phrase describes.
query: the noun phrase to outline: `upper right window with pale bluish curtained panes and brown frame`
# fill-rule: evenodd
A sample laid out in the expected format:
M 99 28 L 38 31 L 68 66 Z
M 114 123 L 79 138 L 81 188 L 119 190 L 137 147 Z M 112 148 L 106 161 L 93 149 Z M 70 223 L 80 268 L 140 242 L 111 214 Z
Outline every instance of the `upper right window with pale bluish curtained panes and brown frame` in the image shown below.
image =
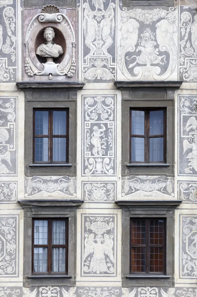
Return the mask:
M 165 162 L 166 110 L 130 109 L 130 162 Z

